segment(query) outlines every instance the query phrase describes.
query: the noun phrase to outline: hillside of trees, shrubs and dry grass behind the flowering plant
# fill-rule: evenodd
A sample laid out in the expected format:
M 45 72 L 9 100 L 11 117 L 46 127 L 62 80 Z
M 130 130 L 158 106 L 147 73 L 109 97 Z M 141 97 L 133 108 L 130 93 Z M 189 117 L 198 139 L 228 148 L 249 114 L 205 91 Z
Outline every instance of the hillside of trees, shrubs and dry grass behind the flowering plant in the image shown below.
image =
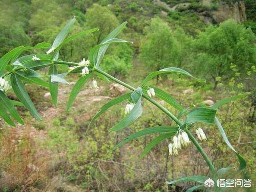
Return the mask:
M 152 85 L 163 88 L 184 107 L 209 100 L 216 102 L 241 92 L 251 93 L 248 98 L 223 106 L 218 116 L 222 117 L 222 122 L 227 122 L 224 129 L 230 142 L 248 163 L 248 167 L 235 177 L 250 178 L 253 183 L 256 180 L 256 144 L 252 142 L 256 136 L 256 4 L 254 0 L 244 1 L 248 20 L 242 23 L 232 18 L 217 23 L 206 22 L 207 16 L 202 18 L 200 13 L 211 14 L 218 10 L 218 1 L 205 5 L 201 1 L 188 0 L 188 7 L 171 9 L 180 2 L 0 0 L 0 56 L 16 46 L 52 42 L 66 22 L 76 16 L 78 22 L 71 34 L 94 27 L 100 29 L 93 35 L 72 41 L 61 50 L 60 58 L 79 62 L 87 58 L 92 46 L 127 20 L 128 27 L 121 36 L 134 43 L 111 45 L 102 62 L 102 68 L 113 76 L 138 85 L 148 72 L 176 66 L 206 78 L 206 84 L 178 75 L 160 76 L 152 81 Z M 228 1 L 228 4 L 232 6 L 235 2 Z M 69 81 L 76 80 L 74 77 Z M 140 120 L 125 132 L 108 132 L 108 128 L 124 116 L 125 104 L 121 104 L 100 117 L 84 137 L 90 118 L 118 91 L 111 91 L 110 85 L 100 80 L 98 91 L 88 84 L 74 107 L 66 113 L 65 102 L 72 84 L 60 86 L 58 108 L 52 105 L 47 88 L 27 84 L 44 121 L 38 122 L 21 108 L 25 126 L 11 128 L 0 121 L 0 190 L 180 191 L 193 183 L 171 187 L 165 181 L 191 174 L 208 174 L 204 160 L 193 146 L 179 156 L 168 156 L 166 141 L 140 159 L 142 149 L 151 140 L 146 136 L 111 150 L 135 130 L 172 124 L 148 103 L 143 103 L 144 113 Z M 14 97 L 11 92 L 9 96 Z M 164 106 L 170 108 L 167 104 Z M 236 156 L 226 147 L 216 127 L 204 127 L 204 130 L 208 142 L 202 145 L 214 166 L 237 167 Z M 248 190 L 254 191 L 255 184 Z

